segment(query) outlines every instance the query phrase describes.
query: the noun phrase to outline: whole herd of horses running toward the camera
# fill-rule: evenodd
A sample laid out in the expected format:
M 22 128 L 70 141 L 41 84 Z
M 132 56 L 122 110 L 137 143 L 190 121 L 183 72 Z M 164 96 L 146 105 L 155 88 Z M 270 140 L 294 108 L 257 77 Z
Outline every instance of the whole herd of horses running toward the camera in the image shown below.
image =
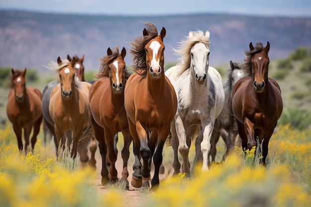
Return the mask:
M 242 64 L 230 62 L 228 81 L 223 84 L 218 70 L 209 66 L 209 31 L 190 31 L 174 49 L 180 56 L 178 64 L 164 72 L 165 35 L 164 27 L 158 33 L 153 23 L 146 23 L 143 35 L 130 43 L 133 72 L 126 68 L 126 49 L 120 53 L 116 46 L 100 59 L 95 81 L 84 79 L 84 55 L 65 60 L 58 57 L 47 66 L 57 80 L 48 83 L 42 95 L 40 90 L 26 87 L 26 69 L 12 69 L 6 113 L 18 149 L 28 152 L 32 128 L 34 148 L 43 122 L 44 138 L 48 134 L 54 138 L 57 157 L 69 146 L 74 159 L 79 154 L 81 163 L 95 167 L 98 144 L 102 185 L 120 181 L 127 188 L 132 141 L 135 163 L 131 185 L 135 188 L 158 186 L 165 143 L 173 149 L 174 174 L 190 176 L 192 140 L 195 159 L 202 170 L 209 170 L 220 136 L 227 146 L 223 160 L 236 143 L 244 150 L 261 144 L 260 161 L 265 165 L 269 139 L 283 109 L 280 87 L 268 77 L 270 43 L 265 47 L 260 42 L 255 47 L 250 43 Z M 115 166 L 118 132 L 124 138 L 120 179 Z M 152 163 L 155 172 L 150 182 Z

